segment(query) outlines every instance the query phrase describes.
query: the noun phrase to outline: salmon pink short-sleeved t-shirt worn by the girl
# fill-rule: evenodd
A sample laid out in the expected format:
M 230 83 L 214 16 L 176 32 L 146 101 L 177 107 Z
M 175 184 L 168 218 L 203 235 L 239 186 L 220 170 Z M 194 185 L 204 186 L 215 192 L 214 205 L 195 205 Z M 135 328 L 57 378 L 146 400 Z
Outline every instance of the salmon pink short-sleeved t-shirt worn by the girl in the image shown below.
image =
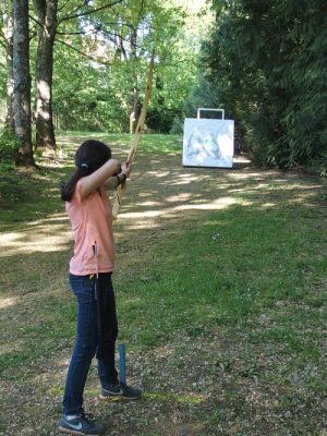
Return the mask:
M 74 234 L 74 255 L 70 262 L 70 272 L 86 276 L 111 272 L 114 267 L 114 238 L 110 199 L 101 187 L 84 202 L 77 182 L 74 195 L 65 203 L 65 210 Z M 93 245 L 97 245 L 97 256 Z

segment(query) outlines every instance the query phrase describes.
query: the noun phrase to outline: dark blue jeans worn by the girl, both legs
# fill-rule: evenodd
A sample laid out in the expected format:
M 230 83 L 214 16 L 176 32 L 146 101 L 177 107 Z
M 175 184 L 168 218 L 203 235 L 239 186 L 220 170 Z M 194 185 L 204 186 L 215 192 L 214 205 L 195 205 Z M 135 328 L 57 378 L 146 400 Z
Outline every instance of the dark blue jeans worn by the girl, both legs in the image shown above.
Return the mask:
M 111 274 L 99 274 L 99 282 L 106 288 L 110 299 L 110 314 L 116 325 L 116 335 L 110 340 L 106 360 L 98 359 L 98 376 L 102 388 L 118 383 L 114 367 L 114 347 L 117 339 L 116 302 Z M 98 347 L 98 316 L 95 298 L 95 279 L 89 276 L 70 275 L 70 286 L 77 299 L 77 334 L 75 348 L 68 371 L 63 396 L 63 413 L 77 414 L 83 407 L 83 392 L 90 366 Z

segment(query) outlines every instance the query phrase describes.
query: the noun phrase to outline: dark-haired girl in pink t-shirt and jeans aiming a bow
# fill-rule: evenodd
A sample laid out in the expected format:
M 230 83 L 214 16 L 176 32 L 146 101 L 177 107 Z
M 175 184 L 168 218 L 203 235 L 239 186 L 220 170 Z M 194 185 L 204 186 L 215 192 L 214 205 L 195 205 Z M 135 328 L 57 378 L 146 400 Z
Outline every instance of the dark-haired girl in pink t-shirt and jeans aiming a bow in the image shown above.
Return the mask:
M 59 429 L 77 435 L 99 435 L 102 429 L 83 411 L 83 391 L 90 362 L 98 359 L 100 398 L 136 399 L 141 391 L 119 384 L 114 367 L 118 335 L 111 274 L 114 266 L 112 215 L 107 189 L 123 183 L 131 165 L 111 157 L 99 141 L 86 141 L 75 154 L 76 170 L 61 187 L 61 198 L 74 234 L 70 286 L 77 300 L 77 334 L 63 396 Z

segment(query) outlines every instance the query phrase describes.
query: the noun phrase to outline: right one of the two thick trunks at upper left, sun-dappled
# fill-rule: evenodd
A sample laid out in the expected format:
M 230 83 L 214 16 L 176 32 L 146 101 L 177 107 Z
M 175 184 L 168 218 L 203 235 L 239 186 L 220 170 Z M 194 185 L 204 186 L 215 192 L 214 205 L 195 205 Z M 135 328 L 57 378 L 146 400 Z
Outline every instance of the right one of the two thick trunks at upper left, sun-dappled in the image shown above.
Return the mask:
M 53 153 L 52 69 L 58 0 L 34 0 L 34 7 L 40 23 L 35 68 L 36 147 Z

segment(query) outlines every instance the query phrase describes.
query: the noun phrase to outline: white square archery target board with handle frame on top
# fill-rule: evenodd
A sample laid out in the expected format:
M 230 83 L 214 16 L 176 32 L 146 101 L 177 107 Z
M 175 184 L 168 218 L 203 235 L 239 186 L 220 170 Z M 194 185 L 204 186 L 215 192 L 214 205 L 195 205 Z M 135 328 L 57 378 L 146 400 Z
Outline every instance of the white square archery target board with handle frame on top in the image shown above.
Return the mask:
M 222 119 L 199 118 L 201 110 L 222 112 Z M 197 118 L 184 121 L 183 166 L 232 168 L 234 155 L 234 121 L 223 119 L 223 109 L 197 111 Z

